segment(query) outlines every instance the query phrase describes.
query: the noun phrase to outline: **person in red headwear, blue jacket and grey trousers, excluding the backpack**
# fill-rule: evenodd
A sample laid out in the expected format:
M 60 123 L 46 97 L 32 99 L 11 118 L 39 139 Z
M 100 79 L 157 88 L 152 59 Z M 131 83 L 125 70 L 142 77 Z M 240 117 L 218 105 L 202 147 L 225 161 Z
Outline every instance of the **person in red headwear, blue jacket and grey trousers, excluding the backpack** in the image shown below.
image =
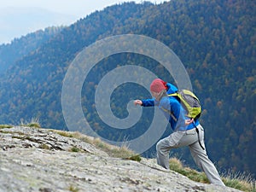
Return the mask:
M 204 144 L 204 130 L 199 120 L 186 117 L 186 111 L 180 102 L 174 96 L 167 96 L 167 94 L 177 92 L 177 87 L 166 83 L 162 79 L 154 79 L 150 84 L 150 91 L 154 98 L 135 100 L 134 104 L 143 107 L 157 106 L 165 114 L 173 130 L 170 136 L 161 139 L 156 144 L 157 163 L 169 169 L 170 150 L 188 146 L 196 165 L 206 173 L 210 183 L 224 186 L 217 169 L 207 156 Z M 199 137 L 195 126 L 199 131 Z

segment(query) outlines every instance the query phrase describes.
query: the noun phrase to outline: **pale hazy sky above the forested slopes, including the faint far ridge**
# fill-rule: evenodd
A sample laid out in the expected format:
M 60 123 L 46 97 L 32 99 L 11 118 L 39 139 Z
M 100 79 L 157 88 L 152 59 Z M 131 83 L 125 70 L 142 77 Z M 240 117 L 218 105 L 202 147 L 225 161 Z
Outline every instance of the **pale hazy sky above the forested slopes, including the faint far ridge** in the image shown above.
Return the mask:
M 149 0 L 162 3 L 164 0 Z M 9 43 L 47 26 L 70 25 L 80 18 L 116 3 L 130 0 L 2 0 L 0 44 Z M 142 3 L 141 0 L 135 0 Z

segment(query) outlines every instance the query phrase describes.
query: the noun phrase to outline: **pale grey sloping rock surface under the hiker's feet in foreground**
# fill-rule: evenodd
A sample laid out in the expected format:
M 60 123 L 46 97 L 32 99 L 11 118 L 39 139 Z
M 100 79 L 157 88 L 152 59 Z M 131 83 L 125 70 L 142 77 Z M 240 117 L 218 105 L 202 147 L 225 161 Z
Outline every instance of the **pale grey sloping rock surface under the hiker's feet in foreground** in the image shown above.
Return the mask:
M 80 152 L 70 152 L 79 148 Z M 239 191 L 196 183 L 155 160 L 110 157 L 47 129 L 0 129 L 0 191 Z

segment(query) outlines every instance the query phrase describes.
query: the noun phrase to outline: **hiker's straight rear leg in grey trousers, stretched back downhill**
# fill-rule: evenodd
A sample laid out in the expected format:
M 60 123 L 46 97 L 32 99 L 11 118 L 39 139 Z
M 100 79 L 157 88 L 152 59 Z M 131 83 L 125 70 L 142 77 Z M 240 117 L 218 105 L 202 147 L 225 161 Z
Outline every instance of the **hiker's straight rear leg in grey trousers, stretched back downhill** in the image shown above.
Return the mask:
M 206 147 L 204 144 L 203 128 L 201 127 L 201 125 L 198 125 L 197 127 L 201 137 L 201 144 L 205 148 L 205 150 L 201 148 L 199 142 L 189 145 L 189 149 L 192 154 L 192 157 L 195 160 L 196 165 L 199 168 L 201 168 L 203 172 L 206 173 L 210 183 L 224 186 L 224 183 L 222 182 L 220 176 L 218 175 L 218 171 L 216 167 L 213 165 L 212 161 L 208 158 Z

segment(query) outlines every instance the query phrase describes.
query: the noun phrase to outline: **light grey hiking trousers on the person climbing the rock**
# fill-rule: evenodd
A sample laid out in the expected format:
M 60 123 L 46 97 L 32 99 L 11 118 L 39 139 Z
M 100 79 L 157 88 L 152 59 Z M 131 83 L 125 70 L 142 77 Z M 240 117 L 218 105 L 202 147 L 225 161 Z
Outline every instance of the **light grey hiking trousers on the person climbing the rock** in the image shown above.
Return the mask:
M 197 125 L 201 140 L 201 145 L 204 144 L 204 130 L 201 125 Z M 172 148 L 180 148 L 189 146 L 190 153 L 195 160 L 196 165 L 206 173 L 210 183 L 224 186 L 218 171 L 209 160 L 206 149 L 202 149 L 195 129 L 189 131 L 175 131 L 169 137 L 163 138 L 156 145 L 157 163 L 166 169 L 169 169 L 169 153 Z

